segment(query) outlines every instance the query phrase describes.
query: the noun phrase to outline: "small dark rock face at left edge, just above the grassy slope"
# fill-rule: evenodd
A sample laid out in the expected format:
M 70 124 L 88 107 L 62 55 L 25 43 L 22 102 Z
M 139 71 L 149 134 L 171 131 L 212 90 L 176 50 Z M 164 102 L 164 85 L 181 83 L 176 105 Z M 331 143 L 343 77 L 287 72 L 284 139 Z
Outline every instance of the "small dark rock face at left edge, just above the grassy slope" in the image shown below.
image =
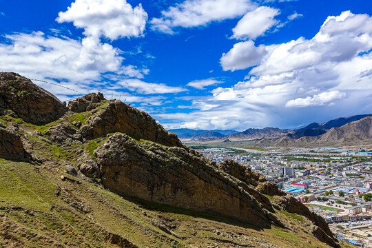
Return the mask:
M 21 138 L 15 132 L 2 127 L 0 127 L 0 158 L 17 161 L 25 161 L 28 158 Z

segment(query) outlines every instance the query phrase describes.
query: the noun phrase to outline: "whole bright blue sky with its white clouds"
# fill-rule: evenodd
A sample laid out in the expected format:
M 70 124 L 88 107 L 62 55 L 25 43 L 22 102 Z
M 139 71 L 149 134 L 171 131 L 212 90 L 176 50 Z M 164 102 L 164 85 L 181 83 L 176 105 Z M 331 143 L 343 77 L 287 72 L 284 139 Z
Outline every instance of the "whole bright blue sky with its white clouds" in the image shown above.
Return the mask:
M 293 128 L 371 113 L 371 15 L 370 0 L 0 0 L 0 70 L 101 88 L 168 129 Z

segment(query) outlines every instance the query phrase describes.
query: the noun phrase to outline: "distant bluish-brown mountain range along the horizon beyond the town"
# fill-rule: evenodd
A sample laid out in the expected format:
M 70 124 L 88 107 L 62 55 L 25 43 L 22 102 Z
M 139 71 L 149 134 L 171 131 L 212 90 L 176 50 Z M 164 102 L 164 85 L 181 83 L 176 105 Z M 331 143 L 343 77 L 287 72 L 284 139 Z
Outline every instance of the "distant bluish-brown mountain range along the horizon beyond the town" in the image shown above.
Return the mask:
M 327 123 L 311 123 L 297 130 L 276 127 L 234 130 L 169 130 L 183 141 L 252 141 L 258 145 L 361 145 L 372 142 L 372 114 L 336 118 Z

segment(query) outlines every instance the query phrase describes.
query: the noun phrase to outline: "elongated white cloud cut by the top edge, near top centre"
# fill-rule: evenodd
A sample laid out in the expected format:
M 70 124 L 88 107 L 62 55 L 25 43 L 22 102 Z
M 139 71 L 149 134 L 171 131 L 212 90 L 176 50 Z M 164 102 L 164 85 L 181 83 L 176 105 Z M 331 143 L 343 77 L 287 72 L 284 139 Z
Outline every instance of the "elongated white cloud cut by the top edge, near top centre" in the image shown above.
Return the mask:
M 174 33 L 174 28 L 192 28 L 207 25 L 212 21 L 223 21 L 240 17 L 257 8 L 251 0 L 186 0 L 161 12 L 160 18 L 153 18 L 152 30 Z

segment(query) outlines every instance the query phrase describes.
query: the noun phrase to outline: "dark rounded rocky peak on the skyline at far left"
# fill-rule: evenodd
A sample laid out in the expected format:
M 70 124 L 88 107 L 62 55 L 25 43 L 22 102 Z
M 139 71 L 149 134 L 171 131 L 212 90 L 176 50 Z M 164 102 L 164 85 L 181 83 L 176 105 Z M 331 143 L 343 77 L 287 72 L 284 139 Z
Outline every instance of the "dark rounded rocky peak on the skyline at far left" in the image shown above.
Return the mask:
M 12 110 L 26 122 L 44 124 L 57 120 L 68 109 L 50 92 L 25 77 L 0 72 L 0 112 L 4 110 Z

